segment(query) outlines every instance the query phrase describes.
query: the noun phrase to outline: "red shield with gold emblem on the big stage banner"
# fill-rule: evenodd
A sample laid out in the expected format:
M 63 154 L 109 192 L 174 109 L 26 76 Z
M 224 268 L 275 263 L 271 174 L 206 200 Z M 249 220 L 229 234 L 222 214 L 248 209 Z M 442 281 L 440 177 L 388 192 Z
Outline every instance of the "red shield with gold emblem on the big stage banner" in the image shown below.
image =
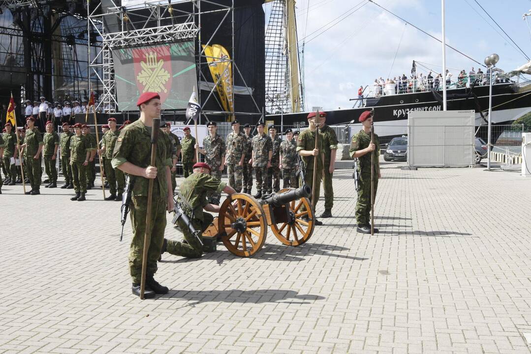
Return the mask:
M 172 59 L 168 46 L 133 49 L 136 87 L 140 94 L 158 92 L 164 103 L 172 89 Z

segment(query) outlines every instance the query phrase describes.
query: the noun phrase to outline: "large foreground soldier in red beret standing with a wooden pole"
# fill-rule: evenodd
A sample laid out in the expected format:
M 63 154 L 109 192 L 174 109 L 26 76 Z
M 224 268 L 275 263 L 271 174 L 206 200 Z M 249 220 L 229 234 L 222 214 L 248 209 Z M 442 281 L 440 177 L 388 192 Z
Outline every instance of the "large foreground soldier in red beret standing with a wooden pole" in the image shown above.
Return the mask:
M 131 226 L 133 237 L 129 254 L 129 271 L 133 286 L 132 292 L 140 296 L 142 276 L 142 254 L 144 234 L 149 232 L 148 257 L 145 277 L 145 298 L 156 294 L 165 294 L 168 288 L 161 286 L 154 278 L 157 272 L 157 260 L 164 243 L 166 212 L 174 208 L 172 193 L 172 152 L 167 134 L 158 134 L 156 163 L 149 166 L 151 159 L 151 131 L 160 129 L 153 126 L 153 119 L 160 117 L 160 96 L 156 92 L 144 92 L 136 102 L 140 109 L 140 118 L 122 129 L 116 142 L 112 165 L 134 178 L 131 197 Z M 146 230 L 149 180 L 153 179 L 154 188 L 151 198 L 151 230 Z

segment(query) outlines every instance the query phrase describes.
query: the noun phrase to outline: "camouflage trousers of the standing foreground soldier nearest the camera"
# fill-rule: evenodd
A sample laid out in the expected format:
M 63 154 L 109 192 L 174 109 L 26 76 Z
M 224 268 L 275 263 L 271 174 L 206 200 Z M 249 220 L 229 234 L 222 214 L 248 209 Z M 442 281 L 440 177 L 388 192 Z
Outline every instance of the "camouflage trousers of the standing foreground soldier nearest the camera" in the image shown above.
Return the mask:
M 147 277 L 152 277 L 157 272 L 157 260 L 159 259 L 162 243 L 164 242 L 167 203 L 166 197 L 153 197 L 151 202 L 151 230 L 148 230 L 151 237 L 148 247 Z M 131 204 L 133 238 L 131 239 L 131 246 L 129 248 L 129 272 L 133 284 L 140 284 L 148 197 L 133 196 Z

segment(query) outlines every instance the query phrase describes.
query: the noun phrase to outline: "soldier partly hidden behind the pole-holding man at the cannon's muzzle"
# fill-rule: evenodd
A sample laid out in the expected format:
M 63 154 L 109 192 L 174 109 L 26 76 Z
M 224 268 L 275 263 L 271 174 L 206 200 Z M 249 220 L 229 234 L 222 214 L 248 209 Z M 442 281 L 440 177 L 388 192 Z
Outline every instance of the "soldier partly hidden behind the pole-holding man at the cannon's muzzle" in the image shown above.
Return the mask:
M 326 119 L 326 116 L 324 116 L 323 124 L 326 123 Z M 319 134 L 321 134 L 323 139 L 324 151 L 324 212 L 320 215 L 320 218 L 331 218 L 333 206 L 332 175 L 334 170 L 334 162 L 336 161 L 338 141 L 334 129 L 326 124 L 319 129 Z

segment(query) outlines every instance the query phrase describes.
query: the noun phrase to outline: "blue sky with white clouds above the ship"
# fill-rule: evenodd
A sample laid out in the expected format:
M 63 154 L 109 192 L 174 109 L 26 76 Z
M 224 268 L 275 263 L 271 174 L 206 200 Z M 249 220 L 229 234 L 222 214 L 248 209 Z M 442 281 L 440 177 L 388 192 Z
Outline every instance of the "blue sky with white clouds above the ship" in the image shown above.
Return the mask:
M 374 1 L 432 36 L 441 38 L 439 0 Z M 528 27 L 528 23 L 531 26 L 531 16 L 527 21 L 522 19 L 522 15 L 531 9 L 531 1 L 477 2 L 531 57 L 531 30 Z M 352 14 L 335 24 L 337 20 L 333 20 L 337 16 L 359 3 L 366 4 L 355 12 L 350 11 Z M 485 56 L 497 53 L 500 56 L 498 67 L 507 71 L 528 62 L 474 0 L 446 0 L 445 5 L 447 44 L 482 64 Z M 271 5 L 266 4 L 264 8 L 267 23 Z M 386 79 L 388 75 L 408 75 L 413 60 L 442 65 L 442 45 L 438 41 L 410 25 L 406 26 L 370 2 L 298 0 L 296 14 L 298 38 L 301 40 L 306 34 L 307 41 L 304 55 L 307 109 L 313 106 L 324 109 L 352 107 L 353 102 L 348 99 L 357 96 L 360 85 L 371 84 L 380 76 Z M 324 27 L 330 29 L 315 37 L 321 31 L 319 28 L 330 21 L 333 22 Z M 335 25 L 331 27 L 332 24 Z M 441 70 L 435 65 L 426 66 Z M 477 70 L 478 64 L 447 48 L 447 66 L 468 72 L 471 67 Z M 457 74 L 458 70 L 452 71 Z

